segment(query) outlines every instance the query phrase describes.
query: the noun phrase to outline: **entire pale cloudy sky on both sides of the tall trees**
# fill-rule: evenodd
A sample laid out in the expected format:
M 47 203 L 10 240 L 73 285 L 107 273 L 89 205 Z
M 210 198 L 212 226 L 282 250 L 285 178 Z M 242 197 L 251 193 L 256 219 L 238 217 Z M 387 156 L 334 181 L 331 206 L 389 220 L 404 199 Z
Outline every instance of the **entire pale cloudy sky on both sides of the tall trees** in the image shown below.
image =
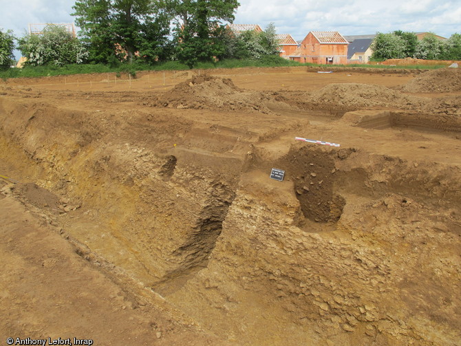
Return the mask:
M 403 30 L 461 34 L 460 0 L 239 0 L 236 24 L 274 23 L 278 34 L 297 41 L 310 31 L 344 36 Z M 0 30 L 24 36 L 29 23 L 72 23 L 75 0 L 0 0 Z

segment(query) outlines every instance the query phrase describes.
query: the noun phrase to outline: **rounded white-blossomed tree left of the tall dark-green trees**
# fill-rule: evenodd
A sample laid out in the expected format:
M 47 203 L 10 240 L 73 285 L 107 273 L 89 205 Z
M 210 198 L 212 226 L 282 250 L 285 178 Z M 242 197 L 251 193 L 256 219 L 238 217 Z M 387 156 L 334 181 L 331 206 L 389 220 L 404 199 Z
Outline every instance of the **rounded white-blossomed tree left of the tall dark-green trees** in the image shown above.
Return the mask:
M 61 25 L 49 24 L 42 34 L 26 34 L 19 39 L 19 50 L 27 65 L 66 65 L 85 62 L 88 52 Z

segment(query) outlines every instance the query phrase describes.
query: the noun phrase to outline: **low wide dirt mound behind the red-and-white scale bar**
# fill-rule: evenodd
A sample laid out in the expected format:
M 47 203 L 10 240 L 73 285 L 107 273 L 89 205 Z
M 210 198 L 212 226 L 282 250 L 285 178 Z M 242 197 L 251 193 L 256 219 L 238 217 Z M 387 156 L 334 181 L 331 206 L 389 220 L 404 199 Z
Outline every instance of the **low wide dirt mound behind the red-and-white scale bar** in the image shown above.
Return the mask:
M 342 107 L 397 107 L 400 109 L 421 107 L 427 102 L 424 98 L 407 96 L 387 87 L 361 83 L 327 85 L 309 94 L 308 101 L 322 104 L 333 103 Z

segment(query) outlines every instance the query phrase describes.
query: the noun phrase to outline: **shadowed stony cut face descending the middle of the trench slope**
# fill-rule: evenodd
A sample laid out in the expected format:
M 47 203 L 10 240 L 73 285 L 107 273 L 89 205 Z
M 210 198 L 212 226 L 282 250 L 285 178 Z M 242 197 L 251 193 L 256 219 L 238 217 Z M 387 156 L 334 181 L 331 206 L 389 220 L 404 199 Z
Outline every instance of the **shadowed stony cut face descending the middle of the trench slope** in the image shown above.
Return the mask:
M 218 183 L 213 186 L 211 195 L 197 217 L 193 232 L 184 244 L 173 252 L 173 259 L 178 263 L 178 267 L 156 283 L 153 290 L 167 296 L 179 290 L 199 270 L 206 268 L 208 257 L 221 235 L 222 223 L 234 197 L 235 193 L 224 184 Z

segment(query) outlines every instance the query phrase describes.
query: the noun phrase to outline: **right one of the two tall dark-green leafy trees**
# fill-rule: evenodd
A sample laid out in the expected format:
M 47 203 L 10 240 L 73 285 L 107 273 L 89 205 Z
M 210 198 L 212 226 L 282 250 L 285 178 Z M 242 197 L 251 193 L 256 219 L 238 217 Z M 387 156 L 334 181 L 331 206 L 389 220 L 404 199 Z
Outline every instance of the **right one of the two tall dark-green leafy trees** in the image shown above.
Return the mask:
M 163 4 L 175 22 L 176 56 L 180 61 L 193 67 L 197 61 L 222 56 L 223 21 L 233 22 L 237 0 L 165 0 Z

